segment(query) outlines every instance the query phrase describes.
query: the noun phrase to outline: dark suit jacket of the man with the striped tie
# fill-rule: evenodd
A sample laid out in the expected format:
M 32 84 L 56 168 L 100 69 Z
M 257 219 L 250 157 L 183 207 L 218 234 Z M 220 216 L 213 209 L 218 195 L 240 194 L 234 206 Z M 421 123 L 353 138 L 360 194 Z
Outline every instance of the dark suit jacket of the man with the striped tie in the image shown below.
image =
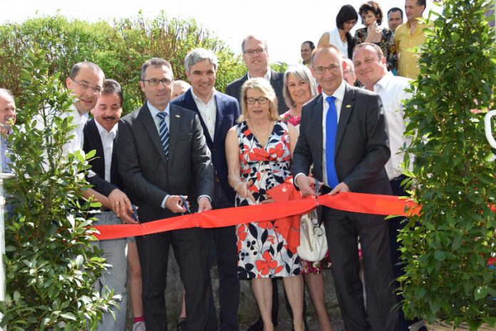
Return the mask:
M 198 116 L 170 105 L 169 155 L 165 156 L 155 121 L 145 105 L 119 121 L 118 168 L 124 190 L 147 222 L 174 214 L 160 205 L 167 194 L 187 195 L 192 211 L 197 197 L 214 190 L 214 168 Z

